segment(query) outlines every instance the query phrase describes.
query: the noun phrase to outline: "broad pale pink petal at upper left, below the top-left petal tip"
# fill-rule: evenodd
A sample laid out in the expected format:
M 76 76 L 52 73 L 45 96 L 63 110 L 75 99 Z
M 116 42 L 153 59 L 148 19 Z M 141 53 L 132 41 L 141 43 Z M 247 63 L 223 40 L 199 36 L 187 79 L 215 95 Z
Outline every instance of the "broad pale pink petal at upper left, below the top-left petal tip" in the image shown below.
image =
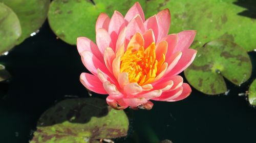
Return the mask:
M 112 47 L 112 40 L 109 33 L 105 29 L 97 29 L 96 31 L 96 43 L 98 45 L 100 53 L 103 55 L 106 47 Z

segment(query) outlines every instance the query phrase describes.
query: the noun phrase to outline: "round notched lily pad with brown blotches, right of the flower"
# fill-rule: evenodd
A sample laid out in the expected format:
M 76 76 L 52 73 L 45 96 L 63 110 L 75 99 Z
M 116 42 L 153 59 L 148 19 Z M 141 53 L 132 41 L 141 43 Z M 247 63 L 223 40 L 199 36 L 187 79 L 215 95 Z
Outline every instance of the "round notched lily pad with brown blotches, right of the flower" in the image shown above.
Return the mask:
M 216 40 L 197 50 L 194 62 L 184 71 L 188 82 L 197 90 L 205 94 L 220 94 L 227 91 L 223 77 L 236 85 L 250 78 L 250 58 L 237 44 Z

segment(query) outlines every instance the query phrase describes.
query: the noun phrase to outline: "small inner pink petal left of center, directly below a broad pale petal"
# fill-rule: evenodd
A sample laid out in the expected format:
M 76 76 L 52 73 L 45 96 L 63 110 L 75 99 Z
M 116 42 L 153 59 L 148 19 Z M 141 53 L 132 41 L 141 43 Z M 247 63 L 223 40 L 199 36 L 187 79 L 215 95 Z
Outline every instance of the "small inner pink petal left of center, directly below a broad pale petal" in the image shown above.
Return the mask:
M 116 57 L 115 52 L 112 48 L 107 47 L 104 51 L 103 57 L 106 67 L 109 69 L 110 73 L 112 73 L 112 62 Z

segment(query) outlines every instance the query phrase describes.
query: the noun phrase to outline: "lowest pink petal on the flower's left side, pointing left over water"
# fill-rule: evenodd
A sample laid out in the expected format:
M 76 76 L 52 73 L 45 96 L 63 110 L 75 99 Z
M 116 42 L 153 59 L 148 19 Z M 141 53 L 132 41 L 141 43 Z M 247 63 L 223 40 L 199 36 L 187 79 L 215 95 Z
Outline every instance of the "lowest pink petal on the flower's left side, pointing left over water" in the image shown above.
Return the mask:
M 89 90 L 99 93 L 99 94 L 108 94 L 103 88 L 102 82 L 98 79 L 98 77 L 88 74 L 82 73 L 80 75 L 80 81 L 83 86 L 88 88 Z

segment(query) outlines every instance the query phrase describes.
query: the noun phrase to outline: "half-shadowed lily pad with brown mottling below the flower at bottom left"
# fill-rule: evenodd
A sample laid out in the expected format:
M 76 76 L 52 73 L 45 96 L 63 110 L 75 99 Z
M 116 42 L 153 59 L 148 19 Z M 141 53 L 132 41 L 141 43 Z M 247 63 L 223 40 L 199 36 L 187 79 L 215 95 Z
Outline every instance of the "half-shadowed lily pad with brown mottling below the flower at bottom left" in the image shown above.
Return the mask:
M 41 115 L 31 142 L 96 142 L 125 136 L 128 127 L 124 111 L 114 110 L 105 100 L 68 99 Z

